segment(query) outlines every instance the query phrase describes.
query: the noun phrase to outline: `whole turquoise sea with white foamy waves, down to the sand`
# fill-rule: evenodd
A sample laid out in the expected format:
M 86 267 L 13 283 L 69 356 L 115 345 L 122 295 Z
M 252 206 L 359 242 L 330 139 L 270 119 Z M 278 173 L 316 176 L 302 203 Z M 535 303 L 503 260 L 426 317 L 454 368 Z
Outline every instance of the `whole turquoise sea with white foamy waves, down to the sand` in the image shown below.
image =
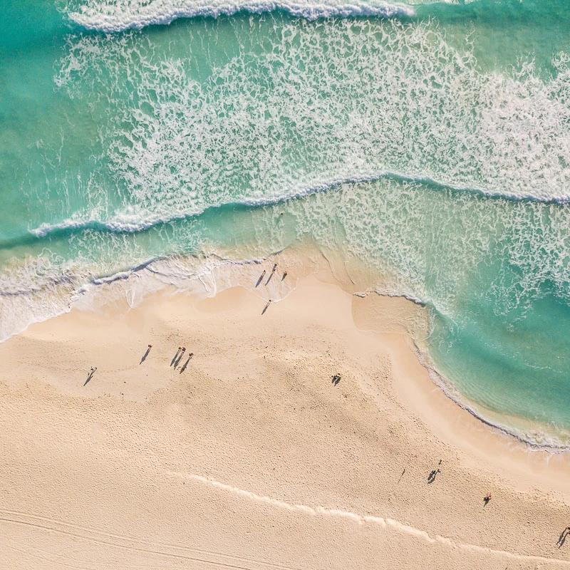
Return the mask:
M 0 16 L 0 341 L 311 242 L 425 305 L 462 405 L 570 446 L 569 0 Z

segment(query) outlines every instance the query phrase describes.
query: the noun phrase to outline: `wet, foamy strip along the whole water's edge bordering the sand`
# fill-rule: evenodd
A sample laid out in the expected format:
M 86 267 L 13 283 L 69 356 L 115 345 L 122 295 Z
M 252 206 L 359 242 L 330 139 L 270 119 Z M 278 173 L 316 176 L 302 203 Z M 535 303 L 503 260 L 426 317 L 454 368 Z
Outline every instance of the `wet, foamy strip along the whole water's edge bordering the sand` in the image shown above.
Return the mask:
M 207 260 L 207 263 L 204 264 L 204 260 Z M 133 269 L 94 278 L 76 291 L 67 311 L 31 321 L 26 328 L 12 333 L 11 336 L 0 341 L 0 346 L 2 343 L 10 341 L 11 338 L 25 333 L 31 326 L 61 318 L 61 316 L 71 311 L 107 311 L 108 306 L 115 307 L 118 302 L 120 303 L 121 299 L 127 299 L 128 310 L 131 310 L 138 308 L 141 304 L 145 304 L 147 299 L 155 295 L 183 294 L 211 297 L 212 295 L 216 296 L 218 291 L 242 287 L 244 290 L 259 296 L 259 291 L 257 290 L 259 281 L 257 285 L 253 286 L 255 281 L 254 275 L 257 268 L 264 266 L 264 264 L 272 264 L 274 261 L 285 261 L 286 265 L 293 265 L 299 273 L 295 279 L 305 279 L 307 276 L 316 273 L 321 274 L 321 276 L 328 273 L 329 275 L 326 277 L 327 282 L 338 285 L 343 291 L 356 298 L 367 299 L 371 295 L 375 295 L 386 299 L 403 299 L 405 303 L 413 304 L 427 311 L 426 304 L 421 299 L 399 293 L 398 291 L 391 291 L 389 286 L 387 288 L 382 286 L 365 288 L 365 284 L 368 284 L 371 280 L 371 274 L 368 269 L 360 266 L 358 261 L 352 259 L 349 261 L 348 267 L 339 252 L 328 251 L 324 254 L 323 251 L 314 247 L 314 244 L 301 242 L 294 246 L 286 247 L 280 252 L 252 259 L 233 259 L 232 253 L 228 257 L 218 253 L 202 253 L 184 257 L 157 257 Z M 164 275 L 161 275 L 161 269 L 163 268 L 160 264 L 162 263 L 166 264 L 164 269 L 167 271 L 165 271 Z M 169 264 L 177 266 L 179 263 L 180 274 L 169 275 Z M 141 273 L 149 269 L 153 264 L 157 264 L 158 267 L 148 271 L 147 274 L 143 275 Z M 378 276 L 376 277 L 378 278 Z M 381 282 L 385 278 L 380 276 L 379 279 Z M 145 281 L 145 285 L 138 291 L 138 282 L 140 283 L 141 281 Z M 291 280 L 289 280 L 284 284 L 275 280 L 271 284 L 271 291 L 267 291 L 269 294 L 268 298 L 273 296 L 277 297 L 278 301 L 282 301 L 294 289 L 296 289 L 296 282 L 291 284 Z M 138 299 L 135 299 L 136 297 Z M 418 324 L 419 321 L 424 322 Z M 415 323 L 407 332 L 412 337 L 410 341 L 412 341 L 414 346 L 415 357 L 418 358 L 418 361 L 430 375 L 432 384 L 442 391 L 446 398 L 452 400 L 452 403 L 458 408 L 472 415 L 473 418 L 490 430 L 496 430 L 504 437 L 512 439 L 524 447 L 528 447 L 529 450 L 547 452 L 553 455 L 570 452 L 570 444 L 565 445 L 556 441 L 541 443 L 532 440 L 527 437 L 523 428 L 520 427 L 526 423 L 531 431 L 533 427 L 537 427 L 537 433 L 546 438 L 546 440 L 551 440 L 552 438 L 556 440 L 556 433 L 546 432 L 546 425 L 544 424 L 532 423 L 524 418 L 491 412 L 486 408 L 482 411 L 478 410 L 478 405 L 465 398 L 455 387 L 452 380 L 445 378 L 437 371 L 435 363 L 432 363 L 430 359 L 427 348 L 420 346 L 418 331 L 413 329 L 421 329 L 421 335 L 425 338 L 429 334 L 429 326 L 426 315 L 420 316 L 416 314 Z M 364 330 L 367 330 L 366 327 Z M 370 328 L 370 330 L 379 332 L 375 328 Z M 501 418 L 508 418 L 512 424 L 518 423 L 519 427 L 509 425 L 509 422 L 501 423 Z

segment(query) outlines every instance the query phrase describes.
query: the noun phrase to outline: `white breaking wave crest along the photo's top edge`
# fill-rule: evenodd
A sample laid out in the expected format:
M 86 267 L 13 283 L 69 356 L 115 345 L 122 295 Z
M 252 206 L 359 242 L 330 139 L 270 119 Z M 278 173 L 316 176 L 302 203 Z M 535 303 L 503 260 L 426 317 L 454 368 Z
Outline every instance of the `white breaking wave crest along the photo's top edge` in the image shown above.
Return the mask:
M 271 0 L 155 0 L 155 1 L 88 1 L 68 6 L 68 15 L 90 30 L 105 32 L 140 29 L 170 24 L 178 18 L 231 16 L 239 11 L 261 14 L 286 11 L 292 16 L 316 20 L 334 16 L 413 16 L 411 6 L 385 1 L 271 1 Z

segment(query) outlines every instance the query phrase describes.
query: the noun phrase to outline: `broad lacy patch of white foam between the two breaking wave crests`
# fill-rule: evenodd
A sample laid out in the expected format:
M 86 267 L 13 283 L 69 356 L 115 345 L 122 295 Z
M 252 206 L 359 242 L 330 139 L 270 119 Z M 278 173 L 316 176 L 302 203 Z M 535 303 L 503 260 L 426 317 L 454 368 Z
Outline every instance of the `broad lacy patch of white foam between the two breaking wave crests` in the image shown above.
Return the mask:
M 530 64 L 482 73 L 470 48 L 458 52 L 427 24 L 268 17 L 232 27 L 226 53 L 204 51 L 199 28 L 167 51 L 133 33 L 71 41 L 56 83 L 113 110 L 101 126 L 104 174 L 123 197 L 114 212 L 93 204 L 108 217 L 88 219 L 136 229 L 378 172 L 569 199 L 564 54 L 545 83 Z

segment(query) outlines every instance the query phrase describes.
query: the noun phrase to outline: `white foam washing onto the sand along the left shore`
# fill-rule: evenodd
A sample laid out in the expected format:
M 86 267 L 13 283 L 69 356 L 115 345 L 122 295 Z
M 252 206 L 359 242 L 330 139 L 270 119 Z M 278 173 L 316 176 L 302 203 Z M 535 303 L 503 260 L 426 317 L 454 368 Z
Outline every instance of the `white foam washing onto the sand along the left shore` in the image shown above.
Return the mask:
M 262 257 L 227 259 L 215 252 L 172 256 L 151 259 L 108 276 L 95 276 L 93 268 L 63 262 L 44 252 L 14 264 L 0 276 L 0 343 L 31 324 L 66 313 L 72 307 L 93 310 L 116 299 L 127 299 L 135 307 L 148 295 L 166 288 L 212 297 L 241 286 L 256 291 L 261 299 L 279 301 L 294 288 L 295 269 L 298 274 L 301 269 L 301 261 L 294 255 L 286 253 L 284 259 L 291 277 L 272 279 L 257 289 Z M 267 262 L 265 269 L 270 266 Z

